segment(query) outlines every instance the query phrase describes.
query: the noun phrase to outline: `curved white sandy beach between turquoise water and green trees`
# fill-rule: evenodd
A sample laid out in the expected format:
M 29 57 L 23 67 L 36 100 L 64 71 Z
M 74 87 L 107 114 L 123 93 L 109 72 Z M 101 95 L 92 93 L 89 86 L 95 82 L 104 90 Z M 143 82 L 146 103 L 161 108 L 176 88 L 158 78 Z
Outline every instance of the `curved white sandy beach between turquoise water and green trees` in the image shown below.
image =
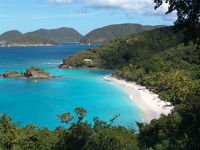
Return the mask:
M 168 115 L 173 109 L 171 103 L 161 101 L 157 94 L 134 82 L 127 82 L 112 76 L 105 76 L 104 79 L 115 82 L 125 89 L 130 99 L 141 110 L 145 122 L 157 119 L 161 114 Z

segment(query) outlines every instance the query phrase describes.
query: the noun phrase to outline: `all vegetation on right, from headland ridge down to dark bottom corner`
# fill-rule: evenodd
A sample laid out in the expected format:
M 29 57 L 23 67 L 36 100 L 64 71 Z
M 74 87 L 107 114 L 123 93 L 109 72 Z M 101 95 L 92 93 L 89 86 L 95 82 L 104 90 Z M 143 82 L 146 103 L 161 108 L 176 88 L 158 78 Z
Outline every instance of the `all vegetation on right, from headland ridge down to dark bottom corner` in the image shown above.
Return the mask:
M 70 56 L 63 67 L 91 67 L 83 61 L 91 59 L 93 67 L 118 69 L 113 76 L 144 85 L 175 106 L 169 116 L 150 124 L 138 123 L 140 148 L 198 150 L 200 51 L 183 42 L 181 32 L 174 34 L 169 27 L 156 29 Z

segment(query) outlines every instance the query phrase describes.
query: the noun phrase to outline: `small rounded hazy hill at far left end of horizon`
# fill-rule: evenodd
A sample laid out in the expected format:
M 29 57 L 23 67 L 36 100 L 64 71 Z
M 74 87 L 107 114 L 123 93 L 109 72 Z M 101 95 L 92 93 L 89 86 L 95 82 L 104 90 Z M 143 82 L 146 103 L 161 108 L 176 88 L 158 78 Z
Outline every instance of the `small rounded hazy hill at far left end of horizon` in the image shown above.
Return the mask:
M 8 32 L 5 32 L 0 35 L 0 41 L 16 40 L 17 38 L 19 38 L 22 35 L 23 34 L 17 30 L 8 31 Z

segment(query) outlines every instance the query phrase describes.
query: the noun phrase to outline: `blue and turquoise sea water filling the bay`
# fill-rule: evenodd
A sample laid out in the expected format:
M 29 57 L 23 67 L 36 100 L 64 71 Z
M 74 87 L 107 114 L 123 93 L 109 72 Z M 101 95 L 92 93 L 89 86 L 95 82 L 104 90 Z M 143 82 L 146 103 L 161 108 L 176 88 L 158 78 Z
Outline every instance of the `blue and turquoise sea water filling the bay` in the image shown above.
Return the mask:
M 96 116 L 109 121 L 121 114 L 116 124 L 136 128 L 135 121 L 141 121 L 140 110 L 122 87 L 103 79 L 111 70 L 57 68 L 67 55 L 87 48 L 78 44 L 0 48 L 0 73 L 35 66 L 53 75 L 63 75 L 46 80 L 0 78 L 0 113 L 7 113 L 21 126 L 37 124 L 54 129 L 61 125 L 56 115 L 83 107 L 88 110 L 86 119 L 90 122 Z

